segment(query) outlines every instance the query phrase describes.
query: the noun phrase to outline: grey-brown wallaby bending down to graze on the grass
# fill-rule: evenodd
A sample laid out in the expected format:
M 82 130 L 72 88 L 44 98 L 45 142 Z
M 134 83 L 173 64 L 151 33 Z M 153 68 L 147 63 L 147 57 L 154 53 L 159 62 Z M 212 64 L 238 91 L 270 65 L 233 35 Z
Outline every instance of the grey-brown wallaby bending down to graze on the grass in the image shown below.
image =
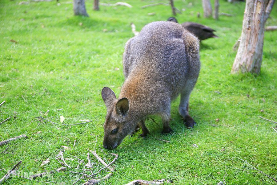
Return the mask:
M 186 126 L 193 127 L 188 104 L 199 70 L 199 41 L 193 34 L 173 22 L 153 22 L 143 27 L 126 43 L 125 82 L 118 99 L 110 88 L 102 89 L 107 108 L 104 148 L 115 149 L 137 125 L 145 137 L 149 133 L 144 124 L 148 115 L 160 115 L 163 133 L 170 133 L 171 101 L 179 94 L 179 113 Z

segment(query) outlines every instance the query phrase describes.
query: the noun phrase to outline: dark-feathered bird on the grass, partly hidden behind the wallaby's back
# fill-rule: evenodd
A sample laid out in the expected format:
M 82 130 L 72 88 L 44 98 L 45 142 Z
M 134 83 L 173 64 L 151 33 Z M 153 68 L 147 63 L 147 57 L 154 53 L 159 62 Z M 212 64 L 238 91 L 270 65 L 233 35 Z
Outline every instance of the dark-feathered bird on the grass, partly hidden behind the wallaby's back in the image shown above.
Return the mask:
M 167 19 L 167 21 L 178 23 L 177 19 L 175 17 L 170 17 Z M 181 24 L 185 29 L 193 33 L 199 40 L 205 40 L 212 37 L 218 37 L 213 32 L 214 29 L 211 29 L 210 27 L 204 26 L 202 24 L 193 23 L 193 22 L 185 22 Z

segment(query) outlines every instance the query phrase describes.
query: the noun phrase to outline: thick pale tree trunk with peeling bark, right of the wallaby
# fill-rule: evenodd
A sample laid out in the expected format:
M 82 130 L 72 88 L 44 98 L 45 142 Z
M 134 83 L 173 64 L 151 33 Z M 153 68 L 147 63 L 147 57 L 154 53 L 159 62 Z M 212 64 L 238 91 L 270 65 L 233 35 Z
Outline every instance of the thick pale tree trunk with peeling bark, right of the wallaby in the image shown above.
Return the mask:
M 274 0 L 246 1 L 239 49 L 231 73 L 260 73 L 263 57 L 264 24 L 273 3 Z

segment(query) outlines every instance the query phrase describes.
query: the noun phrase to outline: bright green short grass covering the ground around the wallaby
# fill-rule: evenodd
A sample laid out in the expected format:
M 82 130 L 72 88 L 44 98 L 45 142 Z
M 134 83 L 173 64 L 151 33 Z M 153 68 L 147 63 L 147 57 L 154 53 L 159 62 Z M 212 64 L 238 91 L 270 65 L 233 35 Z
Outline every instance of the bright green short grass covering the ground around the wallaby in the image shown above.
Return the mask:
M 140 30 L 149 22 L 167 20 L 172 16 L 170 7 L 141 9 L 140 6 L 160 1 L 128 0 L 133 8 L 100 6 L 96 12 L 90 0 L 86 2 L 90 17 L 86 18 L 73 16 L 72 4 L 66 1 L 60 1 L 60 6 L 55 1 L 18 5 L 19 2 L 0 1 L 0 102 L 6 100 L 0 108 L 0 121 L 12 116 L 0 125 L 0 136 L 8 139 L 26 134 L 28 138 L 10 142 L 5 153 L 0 154 L 0 177 L 19 160 L 22 165 L 18 172 L 25 176 L 60 167 L 55 156 L 61 146 L 71 147 L 64 156 L 74 159 L 67 161 L 72 166 L 77 166 L 76 158 L 86 162 L 90 150 L 111 161 L 110 151 L 102 150 L 106 107 L 101 89 L 108 86 L 117 95 L 120 92 L 124 81 L 122 53 L 126 41 L 133 36 L 130 23 Z M 170 178 L 174 184 L 216 184 L 223 178 L 227 184 L 274 184 L 272 179 L 247 169 L 240 159 L 276 178 L 277 133 L 271 128 L 276 124 L 258 117 L 277 120 L 276 32 L 265 33 L 259 76 L 231 75 L 236 55 L 232 46 L 241 33 L 245 3 L 220 1 L 220 12 L 234 16 L 220 16 L 218 21 L 203 18 L 201 1 L 176 0 L 175 5 L 186 9 L 177 16 L 179 22 L 209 25 L 219 36 L 201 44 L 202 68 L 190 100 L 190 113 L 197 126 L 185 128 L 178 114 L 179 98 L 176 99 L 171 110 L 175 133 L 160 134 L 161 119 L 153 116 L 158 124 L 146 122 L 151 131 L 149 138 L 126 137 L 113 151 L 119 154 L 114 164 L 116 172 L 102 184 L 162 178 Z M 275 3 L 268 25 L 276 25 L 276 9 Z M 156 14 L 148 16 L 150 12 Z M 47 110 L 49 113 L 43 115 Z M 69 127 L 61 125 L 61 115 L 66 124 L 79 123 L 80 119 L 94 122 Z M 58 125 L 40 122 L 35 116 L 49 118 Z M 219 121 L 215 121 L 217 118 Z M 6 147 L 0 147 L 0 152 Z M 39 167 L 46 158 L 50 162 Z M 93 156 L 91 160 L 98 163 Z M 104 171 L 98 177 L 106 174 Z M 70 184 L 78 177 L 65 171 L 39 180 Z M 13 177 L 6 183 L 38 182 Z

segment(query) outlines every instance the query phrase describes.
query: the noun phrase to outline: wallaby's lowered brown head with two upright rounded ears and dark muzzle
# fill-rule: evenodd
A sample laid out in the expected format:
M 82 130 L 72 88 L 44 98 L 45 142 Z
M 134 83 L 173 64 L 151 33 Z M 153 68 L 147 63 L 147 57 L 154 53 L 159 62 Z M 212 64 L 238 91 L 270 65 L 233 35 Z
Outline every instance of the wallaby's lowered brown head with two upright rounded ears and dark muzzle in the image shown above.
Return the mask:
M 108 87 L 104 87 L 101 94 L 107 108 L 103 146 L 112 150 L 135 128 L 130 127 L 132 120 L 129 115 L 128 98 L 116 99 L 113 90 Z

